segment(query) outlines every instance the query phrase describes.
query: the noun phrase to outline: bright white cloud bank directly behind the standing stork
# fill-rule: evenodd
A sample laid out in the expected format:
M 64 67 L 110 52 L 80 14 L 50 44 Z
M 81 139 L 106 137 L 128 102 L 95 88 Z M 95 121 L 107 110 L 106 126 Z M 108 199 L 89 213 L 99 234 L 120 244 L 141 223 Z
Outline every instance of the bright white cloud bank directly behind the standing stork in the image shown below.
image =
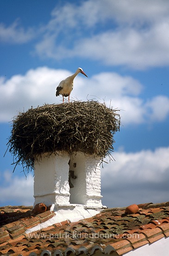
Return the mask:
M 44 103 L 60 103 L 56 87 L 71 73 L 62 69 L 38 67 L 25 75 L 14 75 L 0 80 L 0 121 L 10 121 L 18 111 L 42 106 Z M 87 80 L 88 79 L 88 80 Z M 169 98 L 157 95 L 143 100 L 139 95 L 143 85 L 130 76 L 117 73 L 100 73 L 86 78 L 79 74 L 74 81 L 71 99 L 86 101 L 96 99 L 121 110 L 122 124 L 141 124 L 145 121 L 164 121 L 169 115 Z M 162 103 L 165 102 L 165 106 Z

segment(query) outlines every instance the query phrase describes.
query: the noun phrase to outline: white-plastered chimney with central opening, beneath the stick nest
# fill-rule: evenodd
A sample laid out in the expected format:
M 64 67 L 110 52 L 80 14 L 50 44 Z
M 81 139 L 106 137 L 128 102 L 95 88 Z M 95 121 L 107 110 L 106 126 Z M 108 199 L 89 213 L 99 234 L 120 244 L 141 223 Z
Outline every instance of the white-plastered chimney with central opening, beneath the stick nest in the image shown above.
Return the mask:
M 55 211 L 74 209 L 102 209 L 100 185 L 100 157 L 67 152 L 41 155 L 35 162 L 35 202 L 52 205 Z

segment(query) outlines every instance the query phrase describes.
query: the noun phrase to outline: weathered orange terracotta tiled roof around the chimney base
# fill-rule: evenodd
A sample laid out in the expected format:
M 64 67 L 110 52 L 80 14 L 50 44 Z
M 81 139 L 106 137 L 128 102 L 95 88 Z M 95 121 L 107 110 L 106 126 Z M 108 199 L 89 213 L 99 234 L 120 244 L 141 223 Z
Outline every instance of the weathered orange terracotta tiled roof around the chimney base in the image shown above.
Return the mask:
M 91 218 L 58 222 L 28 234 L 28 228 L 55 213 L 46 211 L 31 216 L 32 207 L 0 208 L 0 255 L 38 256 L 45 251 L 52 256 L 67 256 L 71 252 L 93 255 L 97 251 L 122 255 L 169 236 L 169 202 L 138 207 L 136 214 L 125 214 L 125 208 L 104 209 Z

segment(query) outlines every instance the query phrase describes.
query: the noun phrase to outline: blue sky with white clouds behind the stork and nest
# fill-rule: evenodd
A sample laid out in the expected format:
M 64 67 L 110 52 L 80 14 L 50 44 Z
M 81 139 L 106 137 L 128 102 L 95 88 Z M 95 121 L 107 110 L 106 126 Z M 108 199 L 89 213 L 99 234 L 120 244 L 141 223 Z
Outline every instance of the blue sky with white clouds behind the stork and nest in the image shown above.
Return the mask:
M 32 205 L 33 173 L 13 173 L 13 116 L 61 103 L 56 87 L 83 68 L 71 99 L 121 115 L 115 162 L 101 169 L 108 207 L 169 194 L 169 3 L 166 0 L 0 1 L 0 205 Z

